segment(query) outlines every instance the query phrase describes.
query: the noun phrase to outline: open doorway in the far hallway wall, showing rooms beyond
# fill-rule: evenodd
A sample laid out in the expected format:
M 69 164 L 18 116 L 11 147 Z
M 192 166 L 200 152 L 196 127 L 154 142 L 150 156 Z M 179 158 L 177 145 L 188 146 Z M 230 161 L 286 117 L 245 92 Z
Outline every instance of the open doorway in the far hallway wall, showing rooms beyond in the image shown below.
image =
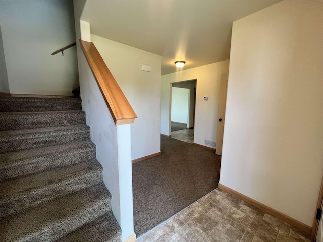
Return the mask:
M 172 83 L 171 137 L 193 144 L 195 122 L 196 79 Z

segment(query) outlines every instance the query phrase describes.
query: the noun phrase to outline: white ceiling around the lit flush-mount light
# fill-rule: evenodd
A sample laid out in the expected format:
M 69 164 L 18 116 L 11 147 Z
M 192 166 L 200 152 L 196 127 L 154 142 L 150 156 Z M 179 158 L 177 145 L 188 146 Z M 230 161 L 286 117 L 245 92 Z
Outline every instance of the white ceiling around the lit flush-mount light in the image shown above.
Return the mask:
M 87 0 L 81 19 L 94 35 L 163 56 L 164 75 L 229 59 L 232 22 L 280 1 Z

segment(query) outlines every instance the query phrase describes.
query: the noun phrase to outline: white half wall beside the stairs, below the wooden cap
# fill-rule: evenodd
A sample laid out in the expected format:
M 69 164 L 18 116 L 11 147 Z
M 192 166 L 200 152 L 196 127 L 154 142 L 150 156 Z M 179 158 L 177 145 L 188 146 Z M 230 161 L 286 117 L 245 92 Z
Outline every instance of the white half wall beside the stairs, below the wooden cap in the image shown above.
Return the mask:
M 103 182 L 112 195 L 111 206 L 122 240 L 134 233 L 130 124 L 116 126 L 82 50 L 78 50 L 82 109 L 91 128 Z

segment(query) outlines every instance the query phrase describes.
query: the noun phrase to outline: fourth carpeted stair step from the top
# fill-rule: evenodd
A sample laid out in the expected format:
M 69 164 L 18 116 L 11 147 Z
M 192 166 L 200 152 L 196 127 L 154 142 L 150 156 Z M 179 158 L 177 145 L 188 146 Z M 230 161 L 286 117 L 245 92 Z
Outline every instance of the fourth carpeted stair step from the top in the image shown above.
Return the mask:
M 0 155 L 0 181 L 15 179 L 48 169 L 95 159 L 91 141 L 63 144 Z

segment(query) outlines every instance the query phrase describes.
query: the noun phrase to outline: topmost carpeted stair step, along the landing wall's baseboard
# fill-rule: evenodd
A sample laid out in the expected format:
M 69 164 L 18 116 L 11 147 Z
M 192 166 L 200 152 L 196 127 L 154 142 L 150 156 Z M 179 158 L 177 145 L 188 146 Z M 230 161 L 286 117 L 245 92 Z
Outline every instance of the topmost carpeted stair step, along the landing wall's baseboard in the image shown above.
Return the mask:
M 82 110 L 79 98 L 0 97 L 0 112 Z

